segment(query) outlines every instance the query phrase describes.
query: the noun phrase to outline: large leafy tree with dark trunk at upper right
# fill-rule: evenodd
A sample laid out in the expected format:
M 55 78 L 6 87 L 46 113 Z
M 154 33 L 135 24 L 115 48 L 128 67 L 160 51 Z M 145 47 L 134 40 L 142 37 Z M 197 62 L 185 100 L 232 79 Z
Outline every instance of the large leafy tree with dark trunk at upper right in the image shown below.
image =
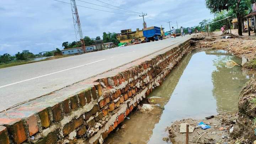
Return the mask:
M 242 35 L 242 17 L 245 16 L 246 10 L 250 9 L 250 4 L 255 0 L 206 0 L 206 7 L 211 12 L 220 12 L 222 10 L 233 10 L 238 18 L 238 34 Z

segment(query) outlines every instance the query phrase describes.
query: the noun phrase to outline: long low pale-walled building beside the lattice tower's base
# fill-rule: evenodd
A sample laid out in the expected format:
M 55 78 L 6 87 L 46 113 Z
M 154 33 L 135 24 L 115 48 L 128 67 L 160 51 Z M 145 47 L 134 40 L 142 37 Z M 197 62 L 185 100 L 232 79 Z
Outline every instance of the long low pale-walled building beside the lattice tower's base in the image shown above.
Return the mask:
M 96 50 L 96 46 L 87 46 L 85 47 L 86 52 L 92 52 L 94 50 Z M 69 54 L 81 54 L 83 53 L 83 49 L 82 47 L 79 48 L 69 48 L 69 49 L 63 49 L 62 50 L 62 54 L 63 55 L 69 55 Z

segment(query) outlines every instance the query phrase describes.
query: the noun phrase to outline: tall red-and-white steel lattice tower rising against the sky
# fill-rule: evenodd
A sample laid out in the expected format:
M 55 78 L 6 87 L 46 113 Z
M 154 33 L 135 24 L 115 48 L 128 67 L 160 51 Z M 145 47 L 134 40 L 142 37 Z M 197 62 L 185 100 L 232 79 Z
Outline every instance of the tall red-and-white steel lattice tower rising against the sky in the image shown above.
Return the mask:
M 85 53 L 86 50 L 85 50 L 84 37 L 82 35 L 82 29 L 81 29 L 81 24 L 80 24 L 80 20 L 79 20 L 78 10 L 77 10 L 77 7 L 76 7 L 76 1 L 75 0 L 70 0 L 70 4 L 71 4 L 71 10 L 72 10 L 74 27 L 75 27 L 76 41 L 78 42 L 78 38 L 80 39 L 80 42 L 82 44 L 82 50 Z

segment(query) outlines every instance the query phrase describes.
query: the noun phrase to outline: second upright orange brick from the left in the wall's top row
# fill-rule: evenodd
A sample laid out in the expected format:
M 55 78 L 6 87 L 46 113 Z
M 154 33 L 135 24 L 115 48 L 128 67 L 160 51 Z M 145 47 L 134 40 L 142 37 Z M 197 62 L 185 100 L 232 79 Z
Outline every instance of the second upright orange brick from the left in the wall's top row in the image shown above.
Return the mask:
M 22 121 L 18 121 L 15 124 L 7 125 L 8 132 L 12 135 L 12 139 L 15 143 L 20 144 L 27 139 L 25 127 Z

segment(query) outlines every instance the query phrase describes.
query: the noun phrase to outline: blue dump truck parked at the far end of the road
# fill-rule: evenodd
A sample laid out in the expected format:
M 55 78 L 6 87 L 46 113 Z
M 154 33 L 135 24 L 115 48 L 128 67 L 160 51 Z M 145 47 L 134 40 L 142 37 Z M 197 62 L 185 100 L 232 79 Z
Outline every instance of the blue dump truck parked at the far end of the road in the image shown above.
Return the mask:
M 161 29 L 160 27 L 148 27 L 143 29 L 143 36 L 145 37 L 146 42 L 158 41 L 161 39 Z

